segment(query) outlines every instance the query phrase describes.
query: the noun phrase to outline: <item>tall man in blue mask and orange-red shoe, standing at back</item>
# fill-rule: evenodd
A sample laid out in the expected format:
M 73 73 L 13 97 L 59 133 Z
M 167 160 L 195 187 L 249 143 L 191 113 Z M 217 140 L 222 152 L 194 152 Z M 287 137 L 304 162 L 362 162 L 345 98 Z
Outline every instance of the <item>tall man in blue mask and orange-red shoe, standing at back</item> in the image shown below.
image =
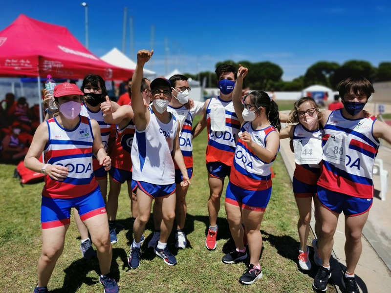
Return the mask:
M 215 250 L 217 246 L 217 215 L 220 209 L 220 198 L 224 179 L 231 172 L 240 130 L 240 123 L 232 103 L 237 70 L 232 65 L 221 64 L 215 72 L 220 95 L 205 101 L 204 115 L 193 131 L 193 137 L 196 137 L 205 126 L 208 126 L 206 167 L 210 195 L 209 229 L 205 246 L 209 250 Z

